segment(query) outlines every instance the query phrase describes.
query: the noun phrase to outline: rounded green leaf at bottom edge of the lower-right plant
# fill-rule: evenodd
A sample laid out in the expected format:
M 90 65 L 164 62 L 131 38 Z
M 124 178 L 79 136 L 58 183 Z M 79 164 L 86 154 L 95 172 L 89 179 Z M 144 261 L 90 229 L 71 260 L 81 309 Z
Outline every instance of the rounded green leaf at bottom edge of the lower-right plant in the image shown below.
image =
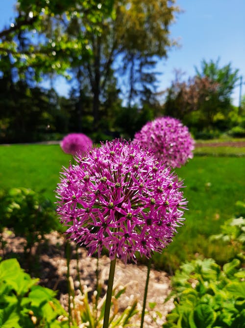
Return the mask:
M 208 304 L 199 304 L 194 309 L 194 321 L 198 328 L 212 327 L 215 319 L 216 313 Z

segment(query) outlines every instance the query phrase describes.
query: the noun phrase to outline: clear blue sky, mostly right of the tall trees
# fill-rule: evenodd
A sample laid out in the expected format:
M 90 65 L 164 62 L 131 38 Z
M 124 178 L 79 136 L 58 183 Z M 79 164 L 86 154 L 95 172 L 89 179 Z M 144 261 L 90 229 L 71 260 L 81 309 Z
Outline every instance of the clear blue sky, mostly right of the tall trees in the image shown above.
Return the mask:
M 0 0 L 0 29 L 11 23 L 14 17 L 15 0 Z M 173 38 L 178 38 L 180 47 L 172 49 L 168 58 L 161 60 L 157 70 L 158 90 L 170 86 L 174 69 L 186 72 L 186 78 L 194 76 L 195 66 L 200 68 L 202 59 L 217 60 L 220 65 L 231 62 L 239 69 L 245 82 L 245 0 L 176 0 L 184 11 L 178 14 L 171 27 Z M 56 89 L 63 95 L 68 94 L 68 86 L 59 79 Z M 245 84 L 243 85 L 245 94 Z M 238 105 L 239 87 L 233 93 L 233 103 Z

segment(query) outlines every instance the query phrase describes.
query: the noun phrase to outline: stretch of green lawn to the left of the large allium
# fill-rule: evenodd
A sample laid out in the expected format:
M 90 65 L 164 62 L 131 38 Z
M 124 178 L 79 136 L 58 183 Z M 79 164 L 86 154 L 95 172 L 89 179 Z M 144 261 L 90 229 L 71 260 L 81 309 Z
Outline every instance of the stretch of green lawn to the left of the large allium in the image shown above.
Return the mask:
M 0 146 L 0 188 L 26 187 L 43 191 L 54 201 L 54 190 L 63 165 L 71 156 L 59 145 Z

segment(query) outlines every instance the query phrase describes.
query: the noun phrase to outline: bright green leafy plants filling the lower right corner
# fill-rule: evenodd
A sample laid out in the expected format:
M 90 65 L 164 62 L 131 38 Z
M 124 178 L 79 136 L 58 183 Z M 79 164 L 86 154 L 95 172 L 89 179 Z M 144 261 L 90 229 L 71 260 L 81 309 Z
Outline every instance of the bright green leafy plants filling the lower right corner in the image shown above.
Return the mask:
M 211 258 L 184 263 L 172 277 L 175 308 L 164 328 L 245 328 L 245 219 L 227 220 L 210 238 L 219 239 L 235 244 L 237 258 L 222 268 Z

